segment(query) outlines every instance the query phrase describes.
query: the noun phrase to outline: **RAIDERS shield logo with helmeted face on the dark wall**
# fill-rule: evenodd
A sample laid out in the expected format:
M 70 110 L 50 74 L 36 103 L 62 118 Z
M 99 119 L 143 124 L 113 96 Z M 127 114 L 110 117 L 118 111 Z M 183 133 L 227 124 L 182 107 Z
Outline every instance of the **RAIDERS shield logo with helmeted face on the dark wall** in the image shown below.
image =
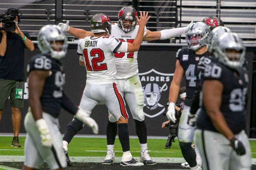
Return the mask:
M 164 112 L 169 95 L 168 86 L 173 75 L 160 73 L 155 69 L 139 73 L 145 101 L 143 111 L 147 117 L 154 118 Z

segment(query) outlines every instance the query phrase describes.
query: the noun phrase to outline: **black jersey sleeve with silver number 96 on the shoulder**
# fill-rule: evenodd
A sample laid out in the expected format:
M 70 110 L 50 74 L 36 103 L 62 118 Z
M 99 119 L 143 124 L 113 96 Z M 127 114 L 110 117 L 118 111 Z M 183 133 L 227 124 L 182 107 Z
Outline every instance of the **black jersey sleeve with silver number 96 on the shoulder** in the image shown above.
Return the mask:
M 30 73 L 32 70 L 45 70 L 52 69 L 52 60 L 46 56 L 35 56 L 28 63 L 27 72 Z

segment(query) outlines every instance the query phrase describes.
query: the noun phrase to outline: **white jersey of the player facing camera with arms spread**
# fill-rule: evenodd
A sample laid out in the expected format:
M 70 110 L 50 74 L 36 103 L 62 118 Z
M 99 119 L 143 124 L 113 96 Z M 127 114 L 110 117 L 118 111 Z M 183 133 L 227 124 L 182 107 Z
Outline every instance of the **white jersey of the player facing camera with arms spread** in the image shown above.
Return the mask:
M 117 23 L 112 23 L 111 26 L 111 35 L 114 35 L 120 41 L 130 43 L 132 43 L 135 39 L 139 29 L 139 25 L 137 25 L 134 30 L 126 34 L 121 28 L 118 27 Z M 144 36 L 146 35 L 146 30 L 147 29 L 145 27 Z M 139 73 L 137 61 L 138 51 L 126 53 L 116 52 L 114 56 L 117 69 L 116 79 L 130 78 Z

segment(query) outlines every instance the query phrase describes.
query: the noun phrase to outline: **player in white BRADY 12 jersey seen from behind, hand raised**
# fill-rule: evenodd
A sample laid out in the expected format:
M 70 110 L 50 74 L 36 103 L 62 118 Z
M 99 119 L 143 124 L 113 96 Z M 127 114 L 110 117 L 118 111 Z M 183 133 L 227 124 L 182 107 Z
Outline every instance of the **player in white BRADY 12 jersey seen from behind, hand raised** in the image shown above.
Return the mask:
M 110 35 L 111 21 L 107 15 L 97 13 L 91 19 L 91 31 L 94 36 L 86 36 L 78 42 L 78 55 L 80 65 L 86 67 L 86 86 L 81 98 L 79 108 L 91 114 L 98 102 L 106 104 L 111 112 L 111 120 L 118 124 L 118 137 L 123 148 L 122 166 L 143 166 L 132 158 L 129 146 L 128 115 L 122 94 L 119 93 L 116 83 L 116 65 L 114 53 L 138 51 L 144 34 L 144 27 L 150 17 L 148 13 L 140 12 L 138 34 L 133 44 L 122 42 Z M 119 82 L 118 82 L 119 83 Z M 73 123 L 71 121 L 71 123 Z

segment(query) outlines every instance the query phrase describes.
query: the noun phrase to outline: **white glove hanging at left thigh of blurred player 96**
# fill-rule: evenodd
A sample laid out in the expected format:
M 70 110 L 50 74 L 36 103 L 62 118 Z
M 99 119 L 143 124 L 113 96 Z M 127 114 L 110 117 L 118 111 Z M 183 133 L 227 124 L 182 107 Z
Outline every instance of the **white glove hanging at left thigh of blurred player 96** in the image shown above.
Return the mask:
M 52 147 L 52 137 L 50 136 L 50 131 L 46 120 L 38 119 L 36 121 L 36 126 L 40 132 L 42 145 L 45 147 Z

